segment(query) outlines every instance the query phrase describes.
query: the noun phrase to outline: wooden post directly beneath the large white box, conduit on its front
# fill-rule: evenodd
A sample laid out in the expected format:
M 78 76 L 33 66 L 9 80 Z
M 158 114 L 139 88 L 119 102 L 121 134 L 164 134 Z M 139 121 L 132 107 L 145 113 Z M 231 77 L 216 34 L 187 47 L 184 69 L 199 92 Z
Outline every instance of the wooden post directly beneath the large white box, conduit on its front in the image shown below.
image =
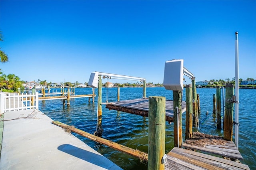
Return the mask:
M 182 103 L 182 92 L 172 91 L 173 93 L 173 114 L 174 114 L 174 146 L 180 147 L 182 144 L 182 114 L 181 114 L 181 103 Z M 178 109 L 176 109 L 178 107 Z M 177 126 L 179 125 L 179 129 Z

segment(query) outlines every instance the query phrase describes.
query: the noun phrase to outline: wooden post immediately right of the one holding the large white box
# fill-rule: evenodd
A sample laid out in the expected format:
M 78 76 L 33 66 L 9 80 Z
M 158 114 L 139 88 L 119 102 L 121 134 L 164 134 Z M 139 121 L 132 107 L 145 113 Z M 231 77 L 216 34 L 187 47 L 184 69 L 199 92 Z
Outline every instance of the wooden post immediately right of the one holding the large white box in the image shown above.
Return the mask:
M 192 84 L 186 85 L 186 132 L 185 140 L 192 138 L 193 126 Z

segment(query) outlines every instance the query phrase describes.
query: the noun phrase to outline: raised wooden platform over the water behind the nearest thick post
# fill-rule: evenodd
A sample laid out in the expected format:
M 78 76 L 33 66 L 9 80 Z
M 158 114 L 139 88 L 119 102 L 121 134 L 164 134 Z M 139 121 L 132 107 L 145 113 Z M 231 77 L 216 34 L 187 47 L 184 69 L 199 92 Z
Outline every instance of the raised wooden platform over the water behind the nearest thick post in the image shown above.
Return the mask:
M 148 117 L 148 99 L 132 99 L 106 104 L 106 108 L 132 113 L 135 115 Z M 186 111 L 186 102 L 182 102 L 182 113 Z M 166 100 L 166 121 L 173 122 L 173 101 Z

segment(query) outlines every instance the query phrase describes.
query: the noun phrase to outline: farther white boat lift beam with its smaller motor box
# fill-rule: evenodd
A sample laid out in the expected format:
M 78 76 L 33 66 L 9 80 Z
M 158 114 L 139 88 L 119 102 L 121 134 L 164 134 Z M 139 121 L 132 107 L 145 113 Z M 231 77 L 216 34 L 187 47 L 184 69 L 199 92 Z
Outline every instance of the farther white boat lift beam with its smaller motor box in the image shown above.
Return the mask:
M 118 74 L 111 74 L 111 73 L 101 73 L 101 72 L 95 71 L 90 75 L 88 86 L 93 88 L 98 88 L 99 76 L 102 76 L 103 78 L 109 78 L 109 79 L 123 79 L 123 80 L 143 81 L 143 82 L 146 81 L 146 79 L 140 78 L 140 77 L 132 77 L 127 75 L 118 75 Z

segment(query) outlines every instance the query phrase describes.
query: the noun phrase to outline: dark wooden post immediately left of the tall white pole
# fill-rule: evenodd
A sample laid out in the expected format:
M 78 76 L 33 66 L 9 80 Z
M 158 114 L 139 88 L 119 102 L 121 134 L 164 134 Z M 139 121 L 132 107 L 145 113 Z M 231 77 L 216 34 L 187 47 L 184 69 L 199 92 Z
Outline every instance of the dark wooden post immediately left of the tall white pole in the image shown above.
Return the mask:
M 234 103 L 232 102 L 232 97 L 234 95 L 234 85 L 226 83 L 226 97 L 225 97 L 225 116 L 224 116 L 224 139 L 232 141 L 233 135 L 233 111 Z M 235 100 L 235 99 L 233 99 Z

